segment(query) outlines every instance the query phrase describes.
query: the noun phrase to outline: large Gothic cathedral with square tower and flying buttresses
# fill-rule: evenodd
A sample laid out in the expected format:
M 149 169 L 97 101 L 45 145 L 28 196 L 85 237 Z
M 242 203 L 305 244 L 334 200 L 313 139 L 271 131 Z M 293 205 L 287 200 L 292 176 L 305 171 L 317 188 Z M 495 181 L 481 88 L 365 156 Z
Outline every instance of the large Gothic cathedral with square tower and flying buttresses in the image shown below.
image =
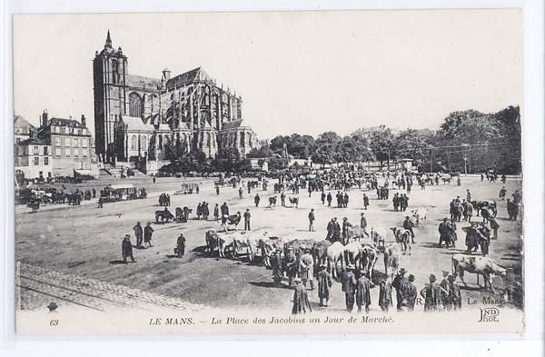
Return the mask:
M 164 69 L 160 79 L 129 74 L 128 57 L 108 31 L 93 73 L 96 154 L 105 164 L 149 174 L 150 161 L 168 159 L 169 145 L 207 157 L 233 149 L 244 157 L 259 145 L 243 125 L 242 98 L 201 67 L 173 77 Z

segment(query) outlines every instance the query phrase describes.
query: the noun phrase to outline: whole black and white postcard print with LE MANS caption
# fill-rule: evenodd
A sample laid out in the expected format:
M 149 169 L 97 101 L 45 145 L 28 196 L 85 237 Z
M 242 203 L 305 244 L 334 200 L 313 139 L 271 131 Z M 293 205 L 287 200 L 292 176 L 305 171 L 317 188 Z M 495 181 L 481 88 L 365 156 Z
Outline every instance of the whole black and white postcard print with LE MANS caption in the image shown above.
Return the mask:
M 522 32 L 15 15 L 16 332 L 523 333 Z

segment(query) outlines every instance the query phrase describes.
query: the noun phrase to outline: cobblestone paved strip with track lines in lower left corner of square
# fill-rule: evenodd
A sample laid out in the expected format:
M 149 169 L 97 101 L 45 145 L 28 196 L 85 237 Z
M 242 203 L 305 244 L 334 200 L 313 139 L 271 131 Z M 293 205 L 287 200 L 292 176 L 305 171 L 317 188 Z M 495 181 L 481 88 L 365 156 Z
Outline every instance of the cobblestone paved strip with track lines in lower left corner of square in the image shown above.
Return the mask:
M 154 311 L 158 307 L 197 312 L 203 308 L 165 295 L 56 273 L 26 263 L 17 264 L 15 282 L 20 310 L 45 309 L 50 302 L 58 306 L 78 305 L 102 312 L 119 311 L 120 308 Z

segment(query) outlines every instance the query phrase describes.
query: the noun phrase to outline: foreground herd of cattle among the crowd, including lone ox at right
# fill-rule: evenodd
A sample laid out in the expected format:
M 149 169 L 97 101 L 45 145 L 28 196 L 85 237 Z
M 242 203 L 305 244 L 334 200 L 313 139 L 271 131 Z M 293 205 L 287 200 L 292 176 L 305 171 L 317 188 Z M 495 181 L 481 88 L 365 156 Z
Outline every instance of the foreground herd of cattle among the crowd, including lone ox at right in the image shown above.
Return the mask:
M 412 216 L 417 225 L 426 221 L 425 208 L 412 210 Z M 229 229 L 227 229 L 229 227 Z M 241 259 L 247 257 L 251 263 L 261 262 L 270 269 L 272 255 L 280 253 L 283 258 L 291 250 L 297 255 L 311 253 L 313 258 L 313 272 L 319 271 L 319 266 L 325 264 L 329 273 L 336 280 L 346 271 L 349 264 L 353 264 L 358 271 L 368 278 L 374 278 L 375 264 L 382 255 L 384 276 L 393 279 L 400 270 L 401 257 L 411 254 L 411 232 L 391 227 L 382 231 L 372 227 L 367 237 L 360 227 L 350 227 L 348 243 L 332 242 L 331 240 L 314 241 L 312 239 L 294 239 L 284 241 L 282 237 L 269 233 L 256 233 L 236 230 L 236 224 L 228 224 L 223 231 L 208 230 L 205 233 L 205 253 L 217 254 L 220 258 Z M 493 259 L 481 255 L 453 254 L 451 257 L 452 273 L 464 281 L 464 272 L 476 273 L 479 284 L 479 275 L 483 275 L 484 287 L 494 292 L 492 281 L 496 275 L 507 277 L 510 269 L 500 266 Z M 282 264 L 282 268 L 286 265 Z M 376 279 L 375 279 L 376 280 Z

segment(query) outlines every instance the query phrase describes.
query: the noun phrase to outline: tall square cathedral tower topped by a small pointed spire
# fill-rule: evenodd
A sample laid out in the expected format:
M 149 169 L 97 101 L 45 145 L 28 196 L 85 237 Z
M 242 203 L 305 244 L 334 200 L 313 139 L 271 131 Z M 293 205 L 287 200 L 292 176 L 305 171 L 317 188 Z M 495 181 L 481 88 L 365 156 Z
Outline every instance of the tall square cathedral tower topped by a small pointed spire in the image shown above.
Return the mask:
M 110 31 L 104 49 L 93 60 L 95 151 L 104 163 L 114 163 L 115 127 L 126 112 L 127 57 L 112 46 Z

